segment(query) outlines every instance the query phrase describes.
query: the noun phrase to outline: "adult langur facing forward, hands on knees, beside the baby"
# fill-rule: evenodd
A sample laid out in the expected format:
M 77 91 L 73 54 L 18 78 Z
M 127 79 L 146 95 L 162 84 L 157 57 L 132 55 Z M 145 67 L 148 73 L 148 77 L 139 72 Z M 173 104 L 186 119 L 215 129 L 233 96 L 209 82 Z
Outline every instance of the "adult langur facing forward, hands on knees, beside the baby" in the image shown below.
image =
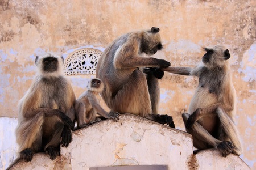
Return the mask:
M 38 74 L 27 94 L 19 101 L 16 141 L 20 159 L 26 162 L 35 152 L 46 152 L 54 160 L 60 143 L 67 147 L 75 120 L 76 97 L 63 74 L 63 57 L 44 54 L 36 57 Z

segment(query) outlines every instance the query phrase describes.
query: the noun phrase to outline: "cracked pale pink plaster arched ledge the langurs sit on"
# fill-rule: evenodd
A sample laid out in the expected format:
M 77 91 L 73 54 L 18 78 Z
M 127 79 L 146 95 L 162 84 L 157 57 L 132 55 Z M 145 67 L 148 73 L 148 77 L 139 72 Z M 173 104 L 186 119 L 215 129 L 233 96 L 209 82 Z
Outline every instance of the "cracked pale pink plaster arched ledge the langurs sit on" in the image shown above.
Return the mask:
M 61 147 L 56 160 L 40 153 L 31 162 L 22 160 L 15 164 L 12 170 L 88 170 L 130 165 L 166 165 L 168 169 L 193 170 L 250 169 L 234 154 L 223 158 L 217 150 L 205 150 L 193 155 L 190 134 L 133 114 L 123 114 L 118 122 L 97 122 L 73 132 L 72 137 L 67 148 Z

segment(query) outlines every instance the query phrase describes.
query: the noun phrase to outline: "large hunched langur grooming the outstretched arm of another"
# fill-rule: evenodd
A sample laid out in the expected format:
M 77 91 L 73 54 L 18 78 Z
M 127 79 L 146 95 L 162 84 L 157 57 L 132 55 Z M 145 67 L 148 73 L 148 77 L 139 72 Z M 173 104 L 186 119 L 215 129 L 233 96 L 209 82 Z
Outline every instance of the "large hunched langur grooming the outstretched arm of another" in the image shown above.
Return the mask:
M 158 114 L 161 71 L 151 68 L 143 73 L 145 67 L 171 65 L 163 59 L 148 57 L 162 48 L 159 28 L 119 36 L 102 53 L 96 78 L 105 83 L 106 90 L 101 95 L 113 112 L 139 115 L 174 128 L 171 116 Z

